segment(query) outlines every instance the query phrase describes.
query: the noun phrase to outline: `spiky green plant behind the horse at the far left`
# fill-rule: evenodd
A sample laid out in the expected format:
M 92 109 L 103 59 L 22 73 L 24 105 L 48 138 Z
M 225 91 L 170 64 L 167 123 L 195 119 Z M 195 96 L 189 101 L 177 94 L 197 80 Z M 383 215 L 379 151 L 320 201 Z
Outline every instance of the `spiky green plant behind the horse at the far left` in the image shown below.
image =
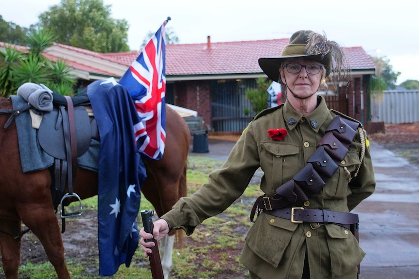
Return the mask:
M 16 94 L 25 82 L 45 84 L 62 95 L 72 94 L 76 78 L 71 68 L 63 60 L 52 62 L 42 55 L 53 39 L 51 32 L 38 30 L 26 38 L 27 51 L 13 45 L 0 49 L 0 96 Z

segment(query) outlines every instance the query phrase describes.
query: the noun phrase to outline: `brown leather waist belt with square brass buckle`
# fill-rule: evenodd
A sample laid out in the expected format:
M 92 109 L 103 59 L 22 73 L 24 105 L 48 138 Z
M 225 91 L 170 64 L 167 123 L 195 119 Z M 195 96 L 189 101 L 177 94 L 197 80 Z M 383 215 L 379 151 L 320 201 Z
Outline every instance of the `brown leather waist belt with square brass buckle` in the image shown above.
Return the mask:
M 263 210 L 263 212 L 269 215 L 291 220 L 292 223 L 333 223 L 347 229 L 350 229 L 351 224 L 356 224 L 359 221 L 358 214 L 326 209 L 285 207 L 273 210 Z

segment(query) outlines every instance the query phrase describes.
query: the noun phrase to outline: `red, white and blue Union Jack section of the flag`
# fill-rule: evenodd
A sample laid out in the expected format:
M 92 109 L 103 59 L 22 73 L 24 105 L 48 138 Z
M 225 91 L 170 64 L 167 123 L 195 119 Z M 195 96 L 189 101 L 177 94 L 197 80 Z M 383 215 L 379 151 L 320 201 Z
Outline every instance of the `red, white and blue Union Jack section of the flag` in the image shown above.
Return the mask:
M 135 131 L 139 150 L 156 160 L 163 156 L 166 142 L 166 23 L 167 20 L 119 81 L 133 98 L 141 118 Z

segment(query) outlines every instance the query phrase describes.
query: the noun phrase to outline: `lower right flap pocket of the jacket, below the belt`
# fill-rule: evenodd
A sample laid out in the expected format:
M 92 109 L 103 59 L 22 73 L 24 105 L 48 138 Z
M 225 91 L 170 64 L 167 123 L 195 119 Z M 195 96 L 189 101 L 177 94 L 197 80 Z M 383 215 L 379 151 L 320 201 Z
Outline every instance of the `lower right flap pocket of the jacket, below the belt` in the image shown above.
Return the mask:
M 328 234 L 332 278 L 335 278 L 353 270 L 361 263 L 365 252 L 349 230 L 334 224 L 327 224 L 325 227 Z

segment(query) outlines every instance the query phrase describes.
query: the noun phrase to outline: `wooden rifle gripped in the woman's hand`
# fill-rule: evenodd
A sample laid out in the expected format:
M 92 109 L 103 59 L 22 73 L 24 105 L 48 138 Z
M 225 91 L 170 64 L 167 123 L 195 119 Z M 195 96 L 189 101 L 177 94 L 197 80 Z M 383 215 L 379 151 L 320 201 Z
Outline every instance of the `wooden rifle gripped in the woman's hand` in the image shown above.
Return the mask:
M 142 225 L 144 226 L 144 231 L 153 234 L 153 217 L 154 211 L 143 209 L 141 210 Z M 153 252 L 148 254 L 150 260 L 150 269 L 151 276 L 153 279 L 164 279 L 163 268 L 161 266 L 160 253 L 158 252 L 157 240 L 153 237 L 152 239 L 144 239 L 145 242 L 153 241 L 155 246 L 151 249 Z

